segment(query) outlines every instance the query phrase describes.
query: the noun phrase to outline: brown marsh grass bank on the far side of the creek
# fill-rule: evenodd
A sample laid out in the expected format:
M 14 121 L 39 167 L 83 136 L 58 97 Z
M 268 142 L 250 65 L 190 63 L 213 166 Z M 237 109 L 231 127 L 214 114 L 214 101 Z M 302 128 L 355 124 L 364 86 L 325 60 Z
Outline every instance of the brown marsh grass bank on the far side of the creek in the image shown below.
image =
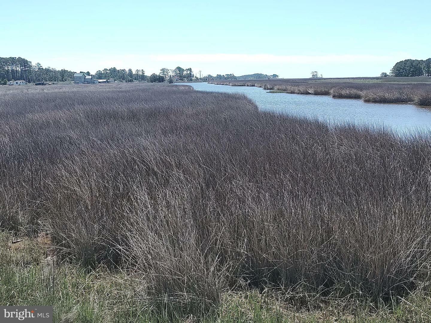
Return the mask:
M 330 95 L 334 98 L 362 99 L 365 102 L 406 102 L 419 106 L 431 105 L 431 84 L 424 82 L 383 83 L 381 81 L 364 82 L 363 79 L 359 79 L 359 81 L 338 79 L 313 81 L 310 79 L 308 81 L 209 81 L 209 83 L 262 87 L 265 90 L 272 90 L 271 93 Z

